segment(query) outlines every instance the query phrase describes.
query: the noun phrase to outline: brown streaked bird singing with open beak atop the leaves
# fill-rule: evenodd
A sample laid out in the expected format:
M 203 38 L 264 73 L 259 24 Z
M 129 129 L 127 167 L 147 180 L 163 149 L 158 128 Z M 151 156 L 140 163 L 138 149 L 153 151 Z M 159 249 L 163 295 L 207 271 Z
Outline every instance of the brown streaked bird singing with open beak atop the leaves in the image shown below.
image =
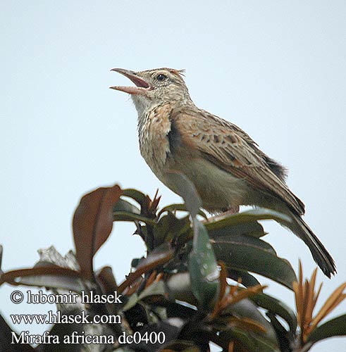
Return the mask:
M 249 135 L 194 105 L 184 70 L 113 68 L 135 86 L 110 87 L 130 94 L 137 110 L 140 153 L 156 177 L 180 194 L 180 172 L 197 189 L 209 213 L 237 212 L 240 206 L 269 208 L 288 215 L 288 227 L 309 247 L 327 277 L 332 256 L 304 222 L 304 203 L 290 191 L 287 169 L 266 155 Z

